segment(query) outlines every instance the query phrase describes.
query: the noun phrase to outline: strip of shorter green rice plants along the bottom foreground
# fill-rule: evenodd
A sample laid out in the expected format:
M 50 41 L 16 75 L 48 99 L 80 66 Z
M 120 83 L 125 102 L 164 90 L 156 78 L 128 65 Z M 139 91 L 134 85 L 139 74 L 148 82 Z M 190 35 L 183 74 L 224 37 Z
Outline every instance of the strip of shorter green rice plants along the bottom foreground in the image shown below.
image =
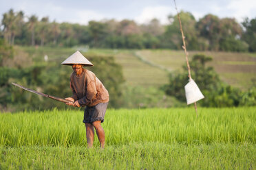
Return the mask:
M 255 145 L 0 147 L 0 169 L 255 169 Z

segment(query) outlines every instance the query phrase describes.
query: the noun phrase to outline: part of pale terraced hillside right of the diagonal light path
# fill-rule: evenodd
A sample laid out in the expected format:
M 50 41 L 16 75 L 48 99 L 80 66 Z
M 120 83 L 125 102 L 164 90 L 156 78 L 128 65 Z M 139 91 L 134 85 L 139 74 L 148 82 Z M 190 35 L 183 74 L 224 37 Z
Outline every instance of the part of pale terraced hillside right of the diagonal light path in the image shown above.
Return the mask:
M 166 67 L 170 71 L 181 69 L 186 63 L 184 51 L 173 50 L 140 50 L 138 55 L 150 62 Z M 211 56 L 211 66 L 220 74 L 221 79 L 232 86 L 245 90 L 256 81 L 256 54 L 211 51 L 190 51 L 191 58 L 196 53 Z M 196 80 L 196 77 L 195 77 Z

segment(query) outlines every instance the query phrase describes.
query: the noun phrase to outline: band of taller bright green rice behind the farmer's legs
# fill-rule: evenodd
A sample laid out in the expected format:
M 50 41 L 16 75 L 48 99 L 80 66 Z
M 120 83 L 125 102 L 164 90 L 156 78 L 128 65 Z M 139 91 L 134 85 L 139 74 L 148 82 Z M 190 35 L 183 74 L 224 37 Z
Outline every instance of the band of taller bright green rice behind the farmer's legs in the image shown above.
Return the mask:
M 107 110 L 107 145 L 256 144 L 256 108 Z M 0 114 L 0 145 L 86 146 L 83 111 L 49 110 Z M 95 140 L 95 144 L 98 141 Z

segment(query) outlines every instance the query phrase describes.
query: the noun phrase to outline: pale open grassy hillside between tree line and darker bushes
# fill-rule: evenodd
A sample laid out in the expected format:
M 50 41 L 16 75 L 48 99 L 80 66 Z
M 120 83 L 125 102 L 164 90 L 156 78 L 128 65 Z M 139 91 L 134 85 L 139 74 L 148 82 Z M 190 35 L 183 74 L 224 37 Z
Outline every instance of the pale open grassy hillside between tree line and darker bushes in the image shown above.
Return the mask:
M 181 69 L 186 63 L 184 51 L 173 50 L 116 50 L 116 49 L 83 49 L 83 48 L 47 48 L 21 47 L 35 61 L 43 61 L 47 55 L 49 61 L 60 63 L 77 49 L 87 55 L 114 56 L 122 65 L 128 86 L 161 86 L 167 84 L 168 71 Z M 256 53 L 233 53 L 212 51 L 189 51 L 189 58 L 196 53 L 213 57 L 211 66 L 220 74 L 221 79 L 245 90 L 253 85 L 256 79 Z M 195 77 L 196 80 L 196 77 Z

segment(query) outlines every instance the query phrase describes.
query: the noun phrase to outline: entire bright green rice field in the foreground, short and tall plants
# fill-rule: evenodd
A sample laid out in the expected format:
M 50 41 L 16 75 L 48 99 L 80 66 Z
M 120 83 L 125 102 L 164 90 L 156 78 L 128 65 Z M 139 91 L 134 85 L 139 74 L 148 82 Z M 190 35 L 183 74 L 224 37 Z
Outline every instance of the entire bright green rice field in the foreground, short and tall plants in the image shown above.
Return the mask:
M 104 150 L 83 111 L 0 114 L 0 169 L 256 169 L 255 109 L 107 110 Z

